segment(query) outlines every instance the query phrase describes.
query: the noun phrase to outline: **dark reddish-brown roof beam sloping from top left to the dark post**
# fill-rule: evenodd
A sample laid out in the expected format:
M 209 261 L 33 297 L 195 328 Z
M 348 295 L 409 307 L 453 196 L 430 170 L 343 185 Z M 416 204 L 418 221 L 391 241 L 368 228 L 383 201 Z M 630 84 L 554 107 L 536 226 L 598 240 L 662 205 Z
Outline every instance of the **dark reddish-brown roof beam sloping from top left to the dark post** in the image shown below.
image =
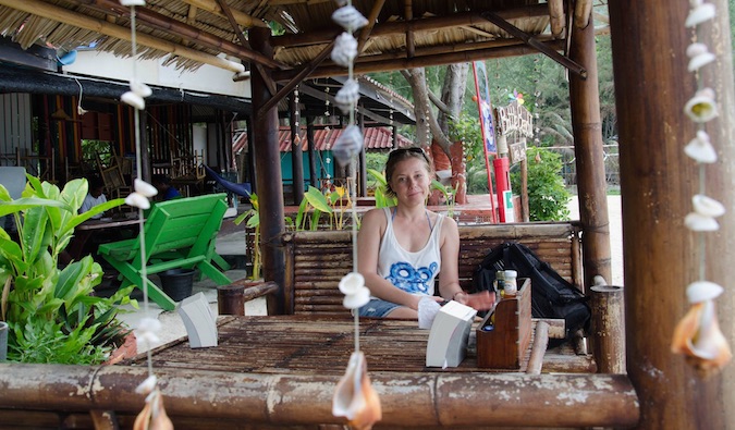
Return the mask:
M 97 9 L 105 13 L 114 12 L 118 16 L 130 17 L 130 8 L 121 5 L 120 2 L 118 1 L 112 0 L 75 0 L 75 1 L 81 4 L 86 4 L 90 8 Z M 192 13 L 196 15 L 195 7 L 191 8 L 189 15 L 192 15 Z M 211 49 L 221 50 L 222 52 L 228 53 L 230 56 L 258 62 L 273 69 L 275 67 L 285 69 L 285 65 L 272 59 L 266 58 L 265 56 L 258 52 L 253 51 L 250 49 L 250 45 L 247 42 L 242 47 L 237 46 L 231 42 L 230 40 L 225 40 L 210 33 L 203 32 L 199 28 L 196 28 L 189 24 L 184 24 L 180 21 L 172 20 L 169 16 L 154 12 L 149 9 L 145 8 L 136 9 L 135 17 L 138 21 L 146 23 L 146 25 L 150 27 L 160 29 L 162 32 L 171 33 L 185 40 L 196 40 L 200 45 L 204 45 Z

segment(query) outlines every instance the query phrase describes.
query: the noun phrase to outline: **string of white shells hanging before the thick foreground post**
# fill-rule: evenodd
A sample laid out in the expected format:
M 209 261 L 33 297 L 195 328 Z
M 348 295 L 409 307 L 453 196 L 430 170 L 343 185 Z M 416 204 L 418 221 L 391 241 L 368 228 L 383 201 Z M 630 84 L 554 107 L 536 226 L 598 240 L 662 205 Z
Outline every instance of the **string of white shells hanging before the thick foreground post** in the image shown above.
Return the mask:
M 689 0 L 691 10 L 685 21 L 686 27 L 698 33 L 701 25 L 712 20 L 715 8 L 702 0 Z M 694 73 L 697 91 L 684 106 L 684 112 L 697 124 L 696 136 L 685 146 L 684 152 L 699 165 L 699 194 L 691 198 L 694 210 L 684 219 L 684 225 L 698 234 L 699 280 L 687 286 L 687 298 L 691 304 L 689 311 L 674 329 L 672 352 L 682 354 L 702 378 L 718 373 L 733 357 L 727 340 L 720 331 L 715 299 L 724 288 L 706 280 L 705 234 L 720 229 L 716 218 L 725 213 L 720 201 L 706 195 L 706 164 L 718 161 L 718 155 L 706 125 L 719 115 L 715 93 L 705 86 L 699 70 L 712 63 L 715 57 L 709 52 L 707 45 L 695 41 L 686 50 L 689 57 L 688 71 Z

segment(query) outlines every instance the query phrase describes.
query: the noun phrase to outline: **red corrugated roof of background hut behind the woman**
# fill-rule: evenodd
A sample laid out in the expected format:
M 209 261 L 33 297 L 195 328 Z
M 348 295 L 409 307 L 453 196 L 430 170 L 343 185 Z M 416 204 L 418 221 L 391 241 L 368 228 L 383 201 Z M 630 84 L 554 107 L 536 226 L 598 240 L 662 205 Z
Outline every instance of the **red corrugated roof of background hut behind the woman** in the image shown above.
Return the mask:
M 317 150 L 329 150 L 342 134 L 342 128 L 317 128 L 314 131 L 314 145 Z M 306 140 L 306 128 L 299 131 L 298 137 L 302 142 L 302 149 L 308 150 Z M 278 133 L 279 148 L 281 152 L 291 151 L 291 128 L 287 126 L 279 127 Z M 393 147 L 393 133 L 388 127 L 366 127 L 363 138 L 367 149 L 391 149 Z M 247 146 L 247 134 L 243 133 L 232 144 L 233 151 L 237 152 Z M 397 144 L 400 148 L 413 146 L 414 143 L 399 134 Z

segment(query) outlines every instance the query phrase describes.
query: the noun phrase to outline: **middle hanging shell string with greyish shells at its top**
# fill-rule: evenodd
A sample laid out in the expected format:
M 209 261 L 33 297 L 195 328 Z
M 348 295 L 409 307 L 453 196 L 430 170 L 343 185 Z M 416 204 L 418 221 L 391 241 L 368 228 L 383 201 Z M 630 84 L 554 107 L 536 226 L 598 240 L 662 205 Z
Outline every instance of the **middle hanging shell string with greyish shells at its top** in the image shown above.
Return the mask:
M 363 150 L 363 132 L 355 125 L 355 107 L 359 99 L 359 85 L 354 79 L 354 60 L 357 57 L 357 40 L 352 35 L 356 29 L 367 25 L 368 21 L 352 5 L 351 1 L 338 0 L 341 7 L 332 14 L 332 20 L 341 25 L 345 32 L 338 36 L 331 52 L 332 61 L 347 67 L 347 82 L 338 91 L 335 103 L 343 113 L 350 114 L 348 126 L 332 146 L 334 158 L 342 164 L 354 163 L 357 155 Z M 355 169 L 351 169 L 353 174 Z M 348 181 L 352 187 L 351 195 L 355 200 L 355 179 Z M 352 206 L 353 217 L 353 261 L 357 263 L 356 237 L 357 237 L 357 212 L 355 205 Z M 370 384 L 367 373 L 365 355 L 359 351 L 359 316 L 357 309 L 366 305 L 370 299 L 370 291 L 365 286 L 365 279 L 357 272 L 347 273 L 340 281 L 340 291 L 345 295 L 343 305 L 352 309 L 355 316 L 355 349 L 350 357 L 347 369 L 338 382 L 332 398 L 332 415 L 345 417 L 348 425 L 356 429 L 370 429 L 372 425 L 382 418 L 380 398 Z

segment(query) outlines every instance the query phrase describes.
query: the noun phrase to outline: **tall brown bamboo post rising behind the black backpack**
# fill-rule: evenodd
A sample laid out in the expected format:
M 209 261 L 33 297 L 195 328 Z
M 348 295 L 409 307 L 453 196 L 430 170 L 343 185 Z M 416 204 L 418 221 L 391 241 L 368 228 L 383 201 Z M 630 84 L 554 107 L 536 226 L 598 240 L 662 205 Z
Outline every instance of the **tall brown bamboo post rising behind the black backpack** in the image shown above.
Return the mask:
M 610 266 L 610 220 L 608 218 L 608 184 L 600 122 L 600 91 L 595 51 L 592 20 L 572 29 L 569 58 L 587 70 L 587 78 L 569 74 L 572 127 L 577 165 L 579 220 L 583 230 L 585 284 L 592 285 L 595 275 L 612 279 Z

